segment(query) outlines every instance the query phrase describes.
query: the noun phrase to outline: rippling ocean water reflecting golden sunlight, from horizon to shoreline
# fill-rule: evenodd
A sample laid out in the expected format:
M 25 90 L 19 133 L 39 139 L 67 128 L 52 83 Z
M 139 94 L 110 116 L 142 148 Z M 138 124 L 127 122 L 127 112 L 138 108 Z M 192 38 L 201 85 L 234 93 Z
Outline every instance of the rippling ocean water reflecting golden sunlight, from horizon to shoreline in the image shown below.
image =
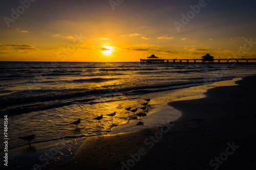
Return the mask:
M 143 94 L 249 76 L 256 65 L 0 62 L 0 70 L 1 122 L 8 115 L 12 148 L 27 144 L 18 137 L 31 134 L 33 142 L 106 134 L 133 119 L 124 108 L 143 107 Z M 152 101 L 148 109 L 169 102 Z M 114 111 L 112 121 L 106 114 Z M 99 123 L 93 118 L 100 115 Z M 76 129 L 70 123 L 78 118 Z

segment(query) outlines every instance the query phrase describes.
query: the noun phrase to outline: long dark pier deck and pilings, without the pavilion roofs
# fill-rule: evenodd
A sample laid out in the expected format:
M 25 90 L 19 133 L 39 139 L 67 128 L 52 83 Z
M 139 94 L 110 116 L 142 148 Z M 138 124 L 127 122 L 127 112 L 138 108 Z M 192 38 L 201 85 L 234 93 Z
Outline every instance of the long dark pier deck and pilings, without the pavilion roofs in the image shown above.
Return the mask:
M 237 61 L 237 63 L 239 63 L 239 61 L 246 61 L 246 63 L 248 63 L 249 60 L 256 61 L 256 58 L 214 59 L 214 61 L 218 61 L 218 64 L 220 64 L 221 61 L 226 61 L 227 63 L 229 63 L 230 60 L 235 60 L 235 61 Z M 205 64 L 205 62 L 206 62 L 203 59 L 140 59 L 141 64 L 169 64 L 169 63 L 175 64 L 176 62 L 179 62 L 181 64 L 182 61 L 186 61 L 187 64 L 189 63 L 189 61 L 194 61 L 194 64 L 196 64 L 197 61 L 202 61 L 203 64 Z M 214 62 L 209 62 L 209 64 L 212 64 L 212 63 L 214 63 Z

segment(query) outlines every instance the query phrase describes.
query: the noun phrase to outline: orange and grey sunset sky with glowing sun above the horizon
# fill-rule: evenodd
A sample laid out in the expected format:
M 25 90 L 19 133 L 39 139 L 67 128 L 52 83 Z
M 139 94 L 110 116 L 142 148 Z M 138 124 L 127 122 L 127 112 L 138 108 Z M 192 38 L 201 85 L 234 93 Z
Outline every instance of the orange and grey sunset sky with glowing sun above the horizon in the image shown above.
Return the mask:
M 256 58 L 255 1 L 3 0 L 0 4 L 0 61 L 119 62 L 152 54 L 181 59 L 206 53 L 216 58 Z

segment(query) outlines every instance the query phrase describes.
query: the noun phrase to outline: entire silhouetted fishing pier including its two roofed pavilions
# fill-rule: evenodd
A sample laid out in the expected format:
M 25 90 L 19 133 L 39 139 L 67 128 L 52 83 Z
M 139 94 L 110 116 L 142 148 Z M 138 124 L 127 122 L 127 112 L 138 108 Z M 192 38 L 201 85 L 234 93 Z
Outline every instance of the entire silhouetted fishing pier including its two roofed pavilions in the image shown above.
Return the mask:
M 176 62 L 182 64 L 182 63 L 189 63 L 191 61 L 194 62 L 194 64 L 197 63 L 197 61 L 201 61 L 202 64 L 209 63 L 214 64 L 215 61 L 218 62 L 218 64 L 221 63 L 221 61 L 226 61 L 229 63 L 229 61 L 237 61 L 237 64 L 239 61 L 246 61 L 248 64 L 249 60 L 256 61 L 256 58 L 228 58 L 228 59 L 214 59 L 214 57 L 210 56 L 209 54 L 206 54 L 205 56 L 201 57 L 201 59 L 159 59 L 159 57 L 156 57 L 155 55 L 152 55 L 151 57 L 147 57 L 147 59 L 140 59 L 141 64 L 175 64 Z M 185 62 L 184 62 L 185 61 Z

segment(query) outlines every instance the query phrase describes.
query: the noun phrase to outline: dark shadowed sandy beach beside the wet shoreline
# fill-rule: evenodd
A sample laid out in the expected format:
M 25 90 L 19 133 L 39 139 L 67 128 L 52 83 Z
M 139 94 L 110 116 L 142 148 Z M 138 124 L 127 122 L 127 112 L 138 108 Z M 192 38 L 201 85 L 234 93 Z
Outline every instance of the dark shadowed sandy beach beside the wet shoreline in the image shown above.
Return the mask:
M 256 77 L 168 103 L 182 116 L 165 126 L 90 137 L 52 169 L 256 169 Z

